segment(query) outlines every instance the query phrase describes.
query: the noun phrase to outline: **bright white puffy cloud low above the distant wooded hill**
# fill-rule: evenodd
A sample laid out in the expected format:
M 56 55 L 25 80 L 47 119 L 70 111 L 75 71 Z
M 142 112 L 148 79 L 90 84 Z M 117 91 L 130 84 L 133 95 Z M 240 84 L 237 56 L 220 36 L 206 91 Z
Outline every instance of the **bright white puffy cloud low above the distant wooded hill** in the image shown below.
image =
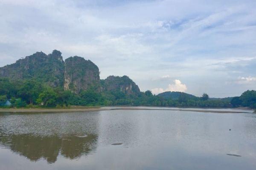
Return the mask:
M 165 91 L 180 91 L 180 92 L 185 92 L 187 90 L 187 87 L 185 84 L 182 84 L 180 80 L 175 79 L 174 84 L 169 84 L 168 88 L 163 89 L 163 88 L 153 88 L 151 89 L 153 94 L 160 94 Z

